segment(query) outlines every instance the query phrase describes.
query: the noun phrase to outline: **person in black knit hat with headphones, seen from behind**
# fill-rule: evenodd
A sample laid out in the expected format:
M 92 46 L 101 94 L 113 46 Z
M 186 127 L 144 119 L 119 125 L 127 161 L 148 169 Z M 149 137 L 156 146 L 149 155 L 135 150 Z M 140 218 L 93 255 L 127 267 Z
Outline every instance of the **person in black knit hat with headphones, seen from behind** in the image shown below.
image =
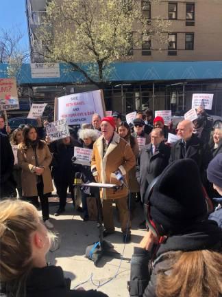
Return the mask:
M 222 232 L 208 220 L 192 159 L 169 164 L 150 185 L 145 214 L 149 232 L 134 248 L 130 296 L 222 296 Z

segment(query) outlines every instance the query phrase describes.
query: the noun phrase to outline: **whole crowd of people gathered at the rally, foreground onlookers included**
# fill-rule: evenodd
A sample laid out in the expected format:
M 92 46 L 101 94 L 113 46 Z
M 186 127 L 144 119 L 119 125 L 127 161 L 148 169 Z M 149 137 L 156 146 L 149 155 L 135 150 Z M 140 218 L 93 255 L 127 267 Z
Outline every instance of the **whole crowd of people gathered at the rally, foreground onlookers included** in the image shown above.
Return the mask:
M 78 131 L 70 127 L 70 136 L 56 141 L 46 134 L 47 122 L 38 120 L 38 127 L 27 124 L 11 131 L 0 116 L 3 292 L 48 296 L 40 295 L 37 285 L 44 278 L 54 296 L 106 296 L 71 291 L 62 269 L 47 267 L 54 184 L 59 197 L 55 216 L 66 211 L 68 192 L 83 221 L 90 219 L 89 197 L 100 198 L 104 237 L 115 231 L 115 203 L 123 243 L 131 241 L 136 207 L 143 207 L 140 227 L 149 232 L 134 248 L 130 296 L 222 296 L 222 127 L 213 129 L 212 118 L 201 107 L 197 116 L 193 122 L 182 120 L 173 126 L 161 116 L 154 118 L 151 109 L 137 111 L 130 124 L 118 111 L 104 118 L 95 113 L 91 123 Z M 168 143 L 168 133 L 179 139 Z M 12 146 L 17 146 L 17 160 Z M 92 150 L 90 166 L 75 162 L 75 147 Z M 115 184 L 117 190 L 84 186 L 80 208 L 75 205 L 76 177 L 85 184 Z M 21 259 L 17 254 L 23 254 Z

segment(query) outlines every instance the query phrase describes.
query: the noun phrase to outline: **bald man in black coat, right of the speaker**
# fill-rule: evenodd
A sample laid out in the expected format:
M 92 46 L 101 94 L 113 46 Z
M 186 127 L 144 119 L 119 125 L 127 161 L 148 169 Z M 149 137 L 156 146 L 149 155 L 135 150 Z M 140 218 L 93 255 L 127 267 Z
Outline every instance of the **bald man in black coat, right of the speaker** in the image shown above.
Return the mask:
M 171 157 L 169 162 L 177 159 L 193 159 L 199 167 L 201 180 L 206 184 L 206 168 L 212 159 L 212 153 L 208 143 L 204 144 L 193 134 L 193 123 L 189 120 L 183 120 L 177 126 L 177 135 L 182 139 L 175 142 L 171 148 Z

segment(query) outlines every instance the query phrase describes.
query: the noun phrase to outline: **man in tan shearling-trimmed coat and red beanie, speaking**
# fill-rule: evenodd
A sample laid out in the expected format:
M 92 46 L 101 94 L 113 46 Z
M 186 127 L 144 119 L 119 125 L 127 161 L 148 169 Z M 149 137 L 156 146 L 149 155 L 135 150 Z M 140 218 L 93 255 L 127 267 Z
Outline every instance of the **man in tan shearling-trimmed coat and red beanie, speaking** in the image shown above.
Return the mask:
M 114 119 L 112 117 L 103 118 L 101 121 L 102 135 L 93 146 L 91 170 L 97 182 L 121 185 L 115 175 L 116 171 L 119 171 L 127 184 L 127 173 L 136 165 L 136 160 L 130 144 L 114 130 Z M 103 236 L 114 232 L 112 202 L 115 201 L 119 210 L 123 242 L 130 242 L 131 223 L 127 206 L 127 191 L 125 186 L 116 191 L 105 188 L 100 190 L 105 227 Z

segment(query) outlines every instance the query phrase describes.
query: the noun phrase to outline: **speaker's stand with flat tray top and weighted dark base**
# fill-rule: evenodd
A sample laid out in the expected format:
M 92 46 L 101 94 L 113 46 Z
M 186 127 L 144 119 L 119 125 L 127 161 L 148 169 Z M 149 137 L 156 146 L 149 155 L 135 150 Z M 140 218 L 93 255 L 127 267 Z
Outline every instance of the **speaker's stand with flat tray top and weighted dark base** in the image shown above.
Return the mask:
M 121 188 L 120 186 L 112 185 L 110 184 L 103 184 L 96 185 L 96 183 L 89 183 L 89 184 L 73 184 L 73 186 L 87 186 L 87 187 L 95 187 L 95 188 L 113 188 L 114 191 Z M 90 259 L 94 262 L 95 266 L 97 266 L 99 260 L 102 258 L 102 256 L 111 256 L 114 259 L 120 259 L 119 252 L 116 252 L 114 250 L 114 246 L 109 241 L 106 241 L 103 239 L 103 212 L 102 212 L 102 206 L 101 206 L 101 200 L 99 195 L 96 195 L 97 197 L 97 209 L 98 209 L 98 229 L 99 229 L 99 241 L 88 245 L 86 248 L 86 258 Z

